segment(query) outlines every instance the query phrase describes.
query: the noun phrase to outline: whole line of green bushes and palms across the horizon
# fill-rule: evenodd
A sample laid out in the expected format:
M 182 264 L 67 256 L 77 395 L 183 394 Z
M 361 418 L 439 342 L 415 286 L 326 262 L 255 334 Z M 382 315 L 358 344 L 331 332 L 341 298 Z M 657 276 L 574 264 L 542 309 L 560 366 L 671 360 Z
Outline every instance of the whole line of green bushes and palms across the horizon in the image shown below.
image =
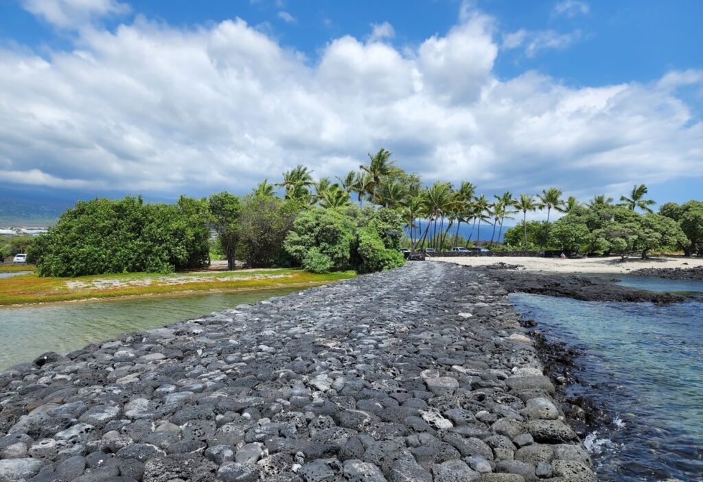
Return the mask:
M 411 251 L 469 246 L 479 241 L 482 227 L 491 229 L 487 244 L 494 249 L 640 250 L 644 256 L 655 248 L 688 255 L 703 248 L 700 201 L 666 203 L 653 213 L 645 185 L 634 186 L 619 203 L 603 194 L 588 203 L 563 199 L 556 187 L 489 199 L 467 181 L 456 188 L 441 181 L 423 187 L 418 175 L 396 166 L 391 156 L 380 149 L 359 170 L 335 180 L 315 180 L 299 165 L 245 196 L 181 196 L 174 204 L 133 196 L 79 201 L 38 237 L 30 257 L 43 276 L 171 272 L 207 265 L 214 234 L 229 269 L 242 260 L 248 267 L 368 272 L 401 265 L 401 246 Z M 527 221 L 536 210 L 546 210 L 546 221 Z M 554 211 L 563 214 L 556 222 L 550 220 Z M 505 220 L 519 217 L 500 243 Z M 471 227 L 466 238 L 460 236 L 462 225 Z

